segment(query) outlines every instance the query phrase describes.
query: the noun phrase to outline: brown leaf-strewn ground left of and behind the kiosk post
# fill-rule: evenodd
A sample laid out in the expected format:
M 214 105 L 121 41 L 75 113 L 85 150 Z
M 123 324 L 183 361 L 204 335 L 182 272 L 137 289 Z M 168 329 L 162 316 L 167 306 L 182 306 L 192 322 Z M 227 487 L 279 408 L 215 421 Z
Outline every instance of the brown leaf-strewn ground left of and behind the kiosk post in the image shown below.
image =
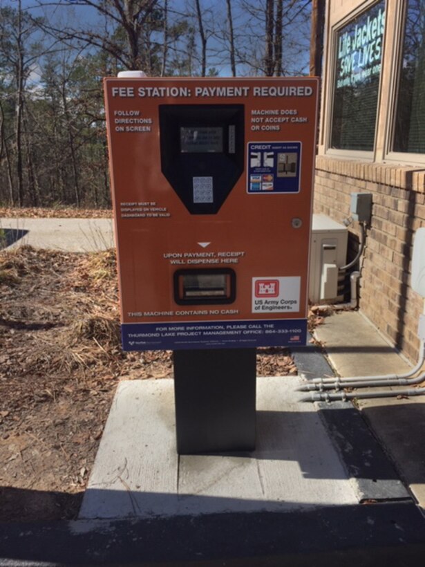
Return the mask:
M 115 251 L 0 252 L 0 521 L 75 517 L 117 383 L 173 376 L 171 351 L 122 351 L 119 319 Z M 296 367 L 259 348 L 257 373 Z

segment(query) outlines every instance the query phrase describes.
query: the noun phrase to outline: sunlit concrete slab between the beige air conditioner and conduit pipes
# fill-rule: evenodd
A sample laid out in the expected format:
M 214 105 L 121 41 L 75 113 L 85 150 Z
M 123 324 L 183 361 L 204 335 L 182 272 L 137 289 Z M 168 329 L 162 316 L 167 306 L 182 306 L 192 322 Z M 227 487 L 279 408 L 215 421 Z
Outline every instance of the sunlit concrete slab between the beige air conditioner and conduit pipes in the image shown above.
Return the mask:
M 314 336 L 323 343 L 330 363 L 343 377 L 402 373 L 411 368 L 357 311 L 326 317 Z

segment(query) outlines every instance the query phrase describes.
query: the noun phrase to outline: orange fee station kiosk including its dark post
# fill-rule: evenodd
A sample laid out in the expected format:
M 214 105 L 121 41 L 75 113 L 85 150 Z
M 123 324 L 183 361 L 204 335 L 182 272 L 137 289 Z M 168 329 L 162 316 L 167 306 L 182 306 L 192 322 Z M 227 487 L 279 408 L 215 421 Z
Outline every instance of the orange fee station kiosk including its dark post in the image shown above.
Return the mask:
M 253 449 L 256 347 L 306 342 L 318 81 L 104 88 L 123 348 L 174 351 L 178 452 Z

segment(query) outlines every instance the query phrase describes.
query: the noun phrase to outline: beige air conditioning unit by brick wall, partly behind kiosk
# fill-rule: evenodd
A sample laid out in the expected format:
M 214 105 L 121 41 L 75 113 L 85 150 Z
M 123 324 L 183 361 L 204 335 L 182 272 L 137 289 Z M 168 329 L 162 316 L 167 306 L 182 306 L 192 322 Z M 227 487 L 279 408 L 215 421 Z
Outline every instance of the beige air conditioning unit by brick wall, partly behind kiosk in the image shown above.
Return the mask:
M 339 267 L 347 263 L 347 227 L 325 214 L 314 214 L 310 243 L 308 297 L 313 304 L 342 301 Z

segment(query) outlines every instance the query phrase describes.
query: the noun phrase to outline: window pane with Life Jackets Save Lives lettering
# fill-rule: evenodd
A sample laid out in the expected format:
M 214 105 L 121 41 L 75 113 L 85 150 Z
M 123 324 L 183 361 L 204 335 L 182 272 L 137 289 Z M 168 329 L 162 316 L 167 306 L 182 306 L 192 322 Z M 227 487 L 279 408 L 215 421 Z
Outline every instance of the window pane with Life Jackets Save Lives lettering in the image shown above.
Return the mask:
M 373 149 L 384 28 L 385 1 L 381 0 L 337 32 L 333 148 Z

